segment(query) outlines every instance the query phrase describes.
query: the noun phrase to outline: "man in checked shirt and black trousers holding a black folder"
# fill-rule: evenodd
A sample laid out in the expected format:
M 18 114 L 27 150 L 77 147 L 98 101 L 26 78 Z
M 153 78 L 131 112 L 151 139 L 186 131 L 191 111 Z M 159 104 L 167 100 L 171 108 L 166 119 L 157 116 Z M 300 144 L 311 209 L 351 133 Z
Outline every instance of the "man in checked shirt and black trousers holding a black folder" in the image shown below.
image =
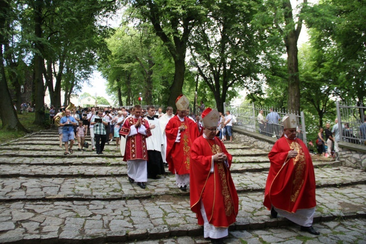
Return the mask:
M 107 132 L 105 126 L 108 125 L 105 118 L 103 118 L 103 111 L 99 110 L 97 116 L 95 116 L 90 122 L 94 125 L 94 136 L 95 136 L 95 146 L 97 147 L 97 154 L 103 154 L 105 141 L 107 139 Z

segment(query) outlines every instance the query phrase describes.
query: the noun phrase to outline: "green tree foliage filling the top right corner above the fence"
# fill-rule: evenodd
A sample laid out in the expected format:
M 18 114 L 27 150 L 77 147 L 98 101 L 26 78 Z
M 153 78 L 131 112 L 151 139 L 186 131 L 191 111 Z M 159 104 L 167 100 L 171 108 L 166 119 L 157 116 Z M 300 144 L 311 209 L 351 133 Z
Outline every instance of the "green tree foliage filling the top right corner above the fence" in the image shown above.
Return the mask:
M 314 39 L 328 43 L 322 51 L 338 74 L 331 84 L 333 94 L 342 100 L 365 102 L 365 1 L 324 0 L 309 13 L 306 22 L 317 30 Z

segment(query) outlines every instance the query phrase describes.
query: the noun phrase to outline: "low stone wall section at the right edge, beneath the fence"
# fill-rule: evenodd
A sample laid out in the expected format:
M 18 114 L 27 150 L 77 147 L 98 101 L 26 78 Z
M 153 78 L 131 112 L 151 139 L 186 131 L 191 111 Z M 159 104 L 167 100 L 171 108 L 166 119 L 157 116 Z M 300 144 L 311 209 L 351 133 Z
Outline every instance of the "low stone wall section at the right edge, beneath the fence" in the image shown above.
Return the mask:
M 366 147 L 349 142 L 339 142 L 339 161 L 344 166 L 366 170 Z

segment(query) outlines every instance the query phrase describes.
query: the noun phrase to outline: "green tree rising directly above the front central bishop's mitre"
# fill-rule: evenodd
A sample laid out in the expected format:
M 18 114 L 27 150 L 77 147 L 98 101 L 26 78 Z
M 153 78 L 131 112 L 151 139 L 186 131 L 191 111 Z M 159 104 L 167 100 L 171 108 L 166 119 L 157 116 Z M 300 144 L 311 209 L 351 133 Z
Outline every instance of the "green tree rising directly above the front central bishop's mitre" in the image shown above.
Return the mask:
M 192 29 L 189 44 L 194 64 L 221 112 L 224 112 L 224 102 L 237 95 L 239 89 L 251 92 L 261 89 L 257 77 L 261 71 L 261 49 L 258 35 L 253 34 L 258 30 L 250 24 L 257 4 L 218 1 L 210 8 L 207 18 L 198 21 Z

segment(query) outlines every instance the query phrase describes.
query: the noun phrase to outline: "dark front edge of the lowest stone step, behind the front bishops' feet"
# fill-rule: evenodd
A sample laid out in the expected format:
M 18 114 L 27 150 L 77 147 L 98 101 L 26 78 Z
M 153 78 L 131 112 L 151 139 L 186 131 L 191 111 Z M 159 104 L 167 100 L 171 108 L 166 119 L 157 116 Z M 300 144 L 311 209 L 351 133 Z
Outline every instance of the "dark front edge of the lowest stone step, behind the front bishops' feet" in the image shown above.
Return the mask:
M 342 213 L 342 215 L 334 215 L 334 214 L 326 214 L 324 216 L 315 216 L 313 223 L 319 222 L 329 222 L 333 220 L 339 219 L 356 219 L 356 218 L 366 218 L 366 212 L 347 212 Z M 230 231 L 234 230 L 258 230 L 266 227 L 280 227 L 280 226 L 288 226 L 294 225 L 291 221 L 286 220 L 285 218 L 279 219 L 271 219 L 270 221 L 254 221 L 249 222 L 246 221 L 242 224 L 232 224 L 229 227 Z M 203 226 L 199 225 L 186 225 L 186 228 L 180 227 L 169 227 L 167 225 L 161 225 L 155 228 L 149 229 L 140 229 L 133 231 L 119 231 L 112 232 L 109 231 L 105 234 L 96 234 L 96 235 L 84 235 L 77 237 L 57 237 L 57 236 L 47 236 L 47 235 L 33 235 L 23 238 L 21 236 L 14 237 L 9 241 L 5 241 L 3 243 L 12 243 L 12 244 L 35 244 L 35 243 L 70 243 L 70 244 L 95 244 L 95 243 L 122 243 L 126 241 L 142 241 L 142 240 L 159 240 L 167 237 L 179 237 L 179 236 L 202 236 L 203 235 Z

